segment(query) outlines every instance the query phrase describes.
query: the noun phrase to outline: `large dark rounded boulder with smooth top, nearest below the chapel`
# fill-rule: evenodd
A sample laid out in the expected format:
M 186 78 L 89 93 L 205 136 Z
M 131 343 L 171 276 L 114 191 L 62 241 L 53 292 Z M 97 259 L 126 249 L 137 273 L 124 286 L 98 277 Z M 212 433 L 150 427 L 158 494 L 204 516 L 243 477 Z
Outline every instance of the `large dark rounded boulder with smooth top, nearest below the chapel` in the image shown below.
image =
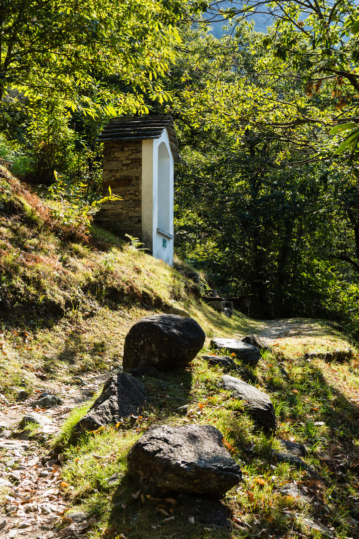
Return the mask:
M 134 324 L 125 337 L 123 370 L 184 367 L 194 360 L 205 338 L 205 332 L 193 318 L 174 314 L 147 316 Z

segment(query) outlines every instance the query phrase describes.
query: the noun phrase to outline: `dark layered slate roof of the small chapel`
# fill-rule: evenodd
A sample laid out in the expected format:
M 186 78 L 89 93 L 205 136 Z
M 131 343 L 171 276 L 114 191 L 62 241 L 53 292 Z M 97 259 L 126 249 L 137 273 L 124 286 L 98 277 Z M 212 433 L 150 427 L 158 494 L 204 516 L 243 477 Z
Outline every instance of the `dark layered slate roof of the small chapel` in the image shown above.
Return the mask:
M 178 141 L 172 116 L 122 116 L 111 118 L 98 136 L 99 142 L 159 139 L 167 129 L 175 162 L 180 161 Z

